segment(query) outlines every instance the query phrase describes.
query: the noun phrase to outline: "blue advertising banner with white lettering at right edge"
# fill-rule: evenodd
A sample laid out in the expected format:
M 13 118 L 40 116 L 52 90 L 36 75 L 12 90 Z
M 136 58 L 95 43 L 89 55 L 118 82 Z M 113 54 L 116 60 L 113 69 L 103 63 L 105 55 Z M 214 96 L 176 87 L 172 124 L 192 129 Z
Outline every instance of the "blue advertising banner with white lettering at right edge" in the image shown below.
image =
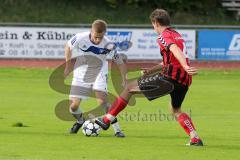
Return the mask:
M 198 59 L 240 60 L 240 31 L 239 30 L 199 31 Z

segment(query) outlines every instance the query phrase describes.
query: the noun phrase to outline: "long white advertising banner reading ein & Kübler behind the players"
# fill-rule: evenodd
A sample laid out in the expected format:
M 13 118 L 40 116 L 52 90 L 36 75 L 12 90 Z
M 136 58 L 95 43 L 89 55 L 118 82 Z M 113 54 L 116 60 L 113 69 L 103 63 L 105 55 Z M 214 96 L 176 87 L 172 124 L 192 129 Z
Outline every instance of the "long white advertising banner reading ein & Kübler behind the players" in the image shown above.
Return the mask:
M 76 33 L 89 28 L 0 27 L 0 58 L 63 59 L 64 44 Z M 195 59 L 195 30 L 178 30 L 186 42 L 188 56 Z M 153 29 L 109 28 L 106 35 L 114 42 L 131 41 L 123 52 L 128 59 L 158 60 L 160 49 Z M 74 52 L 73 56 L 77 56 Z

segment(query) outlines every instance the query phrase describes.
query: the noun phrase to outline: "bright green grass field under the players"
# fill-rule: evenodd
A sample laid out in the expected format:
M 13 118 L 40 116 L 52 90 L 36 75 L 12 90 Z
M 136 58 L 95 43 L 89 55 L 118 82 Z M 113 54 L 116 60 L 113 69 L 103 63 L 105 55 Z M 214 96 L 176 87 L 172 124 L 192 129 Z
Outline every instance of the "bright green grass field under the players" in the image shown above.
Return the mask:
M 73 122 L 55 116 L 55 105 L 68 96 L 48 85 L 51 69 L 0 68 L 0 159 L 9 160 L 156 160 L 239 159 L 240 70 L 202 70 L 183 104 L 191 112 L 204 147 L 187 147 L 188 137 L 174 120 L 147 119 L 168 114 L 169 97 L 149 103 L 138 98 L 119 117 L 124 139 L 113 131 L 99 137 L 68 135 Z M 113 88 L 110 87 L 110 91 Z M 88 110 L 96 102 L 83 103 Z M 142 117 L 136 118 L 136 113 Z M 145 117 L 145 118 L 144 118 Z M 147 121 L 148 120 L 148 121 Z M 21 122 L 25 127 L 13 127 Z

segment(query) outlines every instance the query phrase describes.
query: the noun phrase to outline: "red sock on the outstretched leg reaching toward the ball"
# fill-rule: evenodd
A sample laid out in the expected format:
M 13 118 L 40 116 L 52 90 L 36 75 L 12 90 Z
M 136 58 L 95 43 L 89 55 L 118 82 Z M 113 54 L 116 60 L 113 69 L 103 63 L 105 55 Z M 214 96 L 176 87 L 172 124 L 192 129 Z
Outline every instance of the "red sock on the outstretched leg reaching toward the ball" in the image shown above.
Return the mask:
M 116 117 L 119 112 L 121 112 L 128 104 L 128 101 L 123 99 L 122 97 L 118 97 L 112 104 L 110 110 L 107 114 L 110 114 L 113 117 Z M 103 118 L 105 123 L 110 123 L 111 120 L 107 118 L 107 116 L 104 116 Z

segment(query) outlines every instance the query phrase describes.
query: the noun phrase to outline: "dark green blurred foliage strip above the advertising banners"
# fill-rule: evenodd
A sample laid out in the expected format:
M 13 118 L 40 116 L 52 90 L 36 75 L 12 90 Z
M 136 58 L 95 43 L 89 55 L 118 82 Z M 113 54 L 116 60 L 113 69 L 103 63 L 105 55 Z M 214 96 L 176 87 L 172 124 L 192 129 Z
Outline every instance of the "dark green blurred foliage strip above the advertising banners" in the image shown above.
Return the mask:
M 139 24 L 149 23 L 152 10 L 163 8 L 175 24 L 239 23 L 220 0 L 0 0 L 0 4 L 0 22 L 89 23 L 103 18 Z

